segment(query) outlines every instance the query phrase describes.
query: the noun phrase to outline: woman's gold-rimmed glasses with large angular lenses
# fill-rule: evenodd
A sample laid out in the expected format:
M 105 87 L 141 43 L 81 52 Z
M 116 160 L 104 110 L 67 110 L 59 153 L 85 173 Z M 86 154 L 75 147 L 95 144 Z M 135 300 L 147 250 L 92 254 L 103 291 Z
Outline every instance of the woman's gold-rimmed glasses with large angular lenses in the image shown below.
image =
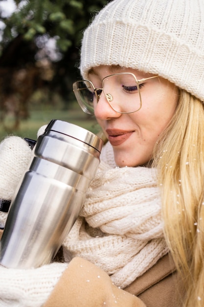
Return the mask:
M 94 115 L 94 107 L 103 92 L 107 102 L 114 111 L 122 114 L 134 113 L 142 106 L 142 91 L 153 76 L 137 80 L 133 73 L 118 73 L 102 80 L 102 87 L 95 88 L 90 80 L 79 80 L 73 83 L 75 97 L 82 110 Z

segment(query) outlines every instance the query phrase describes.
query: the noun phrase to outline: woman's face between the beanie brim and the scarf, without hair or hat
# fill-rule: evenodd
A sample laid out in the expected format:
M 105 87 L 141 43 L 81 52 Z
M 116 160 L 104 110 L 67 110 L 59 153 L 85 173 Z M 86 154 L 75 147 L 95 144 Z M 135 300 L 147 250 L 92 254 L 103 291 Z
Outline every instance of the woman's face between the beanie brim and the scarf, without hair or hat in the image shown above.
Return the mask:
M 89 80 L 95 88 L 101 88 L 104 77 L 121 72 L 133 73 L 137 80 L 154 76 L 134 69 L 98 66 L 90 71 Z M 115 100 L 120 100 L 121 96 L 117 95 L 115 85 L 111 82 L 110 78 L 109 92 L 113 89 L 111 94 L 116 103 Z M 142 106 L 134 113 L 121 114 L 114 111 L 103 92 L 94 106 L 95 117 L 112 144 L 115 163 L 120 167 L 145 165 L 150 160 L 158 137 L 168 125 L 177 106 L 176 86 L 161 77 L 144 82 L 140 93 Z M 125 95 L 126 99 L 122 98 L 123 101 L 118 102 L 120 105 L 133 100 L 131 91 Z

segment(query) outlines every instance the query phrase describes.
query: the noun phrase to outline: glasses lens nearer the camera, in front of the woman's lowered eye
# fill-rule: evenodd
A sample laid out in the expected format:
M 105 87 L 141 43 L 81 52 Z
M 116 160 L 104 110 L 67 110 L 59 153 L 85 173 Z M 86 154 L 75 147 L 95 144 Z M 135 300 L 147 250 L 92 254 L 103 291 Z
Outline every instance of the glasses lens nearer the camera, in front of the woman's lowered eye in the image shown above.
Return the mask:
M 141 97 L 136 77 L 121 73 L 104 78 L 103 91 L 112 108 L 119 113 L 132 113 L 141 108 Z

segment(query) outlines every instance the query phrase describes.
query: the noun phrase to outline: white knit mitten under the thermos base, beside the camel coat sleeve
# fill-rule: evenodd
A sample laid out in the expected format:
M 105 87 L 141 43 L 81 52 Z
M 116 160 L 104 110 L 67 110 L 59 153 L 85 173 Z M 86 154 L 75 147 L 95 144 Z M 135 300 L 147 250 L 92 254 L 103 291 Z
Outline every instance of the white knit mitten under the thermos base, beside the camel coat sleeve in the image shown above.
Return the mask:
M 43 306 L 67 266 L 52 263 L 26 270 L 0 266 L 0 307 Z

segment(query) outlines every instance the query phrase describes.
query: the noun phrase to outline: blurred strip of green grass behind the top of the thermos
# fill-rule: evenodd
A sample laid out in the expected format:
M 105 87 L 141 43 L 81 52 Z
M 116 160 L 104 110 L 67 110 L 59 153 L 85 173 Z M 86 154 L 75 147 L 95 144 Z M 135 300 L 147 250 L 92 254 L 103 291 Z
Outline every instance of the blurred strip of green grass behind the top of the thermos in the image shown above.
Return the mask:
M 77 103 L 72 103 L 69 109 L 42 105 L 39 109 L 30 110 L 30 117 L 21 121 L 18 130 L 9 128 L 13 125 L 13 116 L 12 114 L 7 115 L 4 125 L 0 123 L 0 141 L 8 135 L 18 135 L 36 140 L 38 129 L 43 125 L 47 125 L 52 119 L 59 119 L 78 125 L 95 134 L 100 131 L 94 116 L 85 114 Z M 5 129 L 4 126 L 7 128 Z

